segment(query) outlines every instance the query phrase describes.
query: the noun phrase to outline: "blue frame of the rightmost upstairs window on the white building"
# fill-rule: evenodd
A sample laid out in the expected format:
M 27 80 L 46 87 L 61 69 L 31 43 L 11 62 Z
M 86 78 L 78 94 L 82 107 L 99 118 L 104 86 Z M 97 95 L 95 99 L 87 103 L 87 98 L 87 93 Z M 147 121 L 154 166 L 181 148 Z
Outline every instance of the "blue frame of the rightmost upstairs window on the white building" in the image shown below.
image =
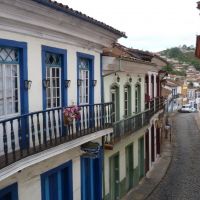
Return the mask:
M 89 104 L 94 104 L 94 87 L 92 86 L 92 80 L 94 80 L 94 56 L 86 53 L 77 52 L 77 79 L 79 79 L 79 60 L 88 59 L 89 60 Z M 79 105 L 79 87 L 77 88 L 77 104 Z

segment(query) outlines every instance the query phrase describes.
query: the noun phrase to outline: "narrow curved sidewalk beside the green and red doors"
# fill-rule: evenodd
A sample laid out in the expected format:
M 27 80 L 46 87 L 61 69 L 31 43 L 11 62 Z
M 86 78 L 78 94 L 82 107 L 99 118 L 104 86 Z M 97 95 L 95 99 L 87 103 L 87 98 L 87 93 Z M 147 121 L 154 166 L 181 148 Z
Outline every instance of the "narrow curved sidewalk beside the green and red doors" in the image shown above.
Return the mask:
M 134 189 L 132 189 L 122 200 L 144 200 L 160 183 L 165 176 L 172 159 L 172 144 L 168 139 L 163 138 L 161 157 L 153 164 L 150 172 L 147 173 Z

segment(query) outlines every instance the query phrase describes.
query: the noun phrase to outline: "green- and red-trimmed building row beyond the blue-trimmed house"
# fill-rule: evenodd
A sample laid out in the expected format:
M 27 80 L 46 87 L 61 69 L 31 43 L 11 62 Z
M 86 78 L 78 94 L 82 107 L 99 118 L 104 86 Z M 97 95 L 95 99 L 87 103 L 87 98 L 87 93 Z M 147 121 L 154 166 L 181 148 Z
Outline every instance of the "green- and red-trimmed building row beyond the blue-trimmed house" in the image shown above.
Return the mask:
M 119 44 L 104 49 L 104 100 L 114 106 L 114 132 L 104 145 L 104 199 L 122 198 L 160 155 L 163 101 L 152 57 Z

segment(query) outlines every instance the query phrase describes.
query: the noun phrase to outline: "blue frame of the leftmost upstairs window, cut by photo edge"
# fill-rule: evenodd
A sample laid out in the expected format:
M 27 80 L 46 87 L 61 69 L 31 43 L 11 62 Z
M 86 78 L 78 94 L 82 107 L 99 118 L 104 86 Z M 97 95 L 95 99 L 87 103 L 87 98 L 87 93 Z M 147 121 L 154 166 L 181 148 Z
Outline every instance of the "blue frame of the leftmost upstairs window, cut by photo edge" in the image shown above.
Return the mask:
M 27 43 L 15 40 L 0 39 L 0 46 L 19 49 L 19 69 L 20 69 L 20 112 L 26 114 L 29 112 L 28 90 L 24 87 L 24 81 L 28 80 L 28 62 L 27 62 Z

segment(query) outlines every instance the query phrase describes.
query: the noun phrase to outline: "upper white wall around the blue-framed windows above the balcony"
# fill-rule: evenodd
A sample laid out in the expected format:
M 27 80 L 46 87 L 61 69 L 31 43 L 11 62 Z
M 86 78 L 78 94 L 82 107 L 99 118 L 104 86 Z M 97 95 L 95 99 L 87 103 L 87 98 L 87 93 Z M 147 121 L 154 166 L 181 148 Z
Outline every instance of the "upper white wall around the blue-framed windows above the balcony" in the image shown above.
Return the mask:
M 16 40 L 27 42 L 28 53 L 28 79 L 32 81 L 29 90 L 29 111 L 42 110 L 42 61 L 41 46 L 49 46 L 67 50 L 67 78 L 71 80 L 68 88 L 68 105 L 77 102 L 77 52 L 86 53 L 94 56 L 94 79 L 97 85 L 94 88 L 94 102 L 101 101 L 101 79 L 100 79 L 100 53 L 94 50 L 84 49 L 78 46 L 49 41 L 40 38 L 20 35 L 16 33 L 8 33 L 0 31 L 1 39 Z

